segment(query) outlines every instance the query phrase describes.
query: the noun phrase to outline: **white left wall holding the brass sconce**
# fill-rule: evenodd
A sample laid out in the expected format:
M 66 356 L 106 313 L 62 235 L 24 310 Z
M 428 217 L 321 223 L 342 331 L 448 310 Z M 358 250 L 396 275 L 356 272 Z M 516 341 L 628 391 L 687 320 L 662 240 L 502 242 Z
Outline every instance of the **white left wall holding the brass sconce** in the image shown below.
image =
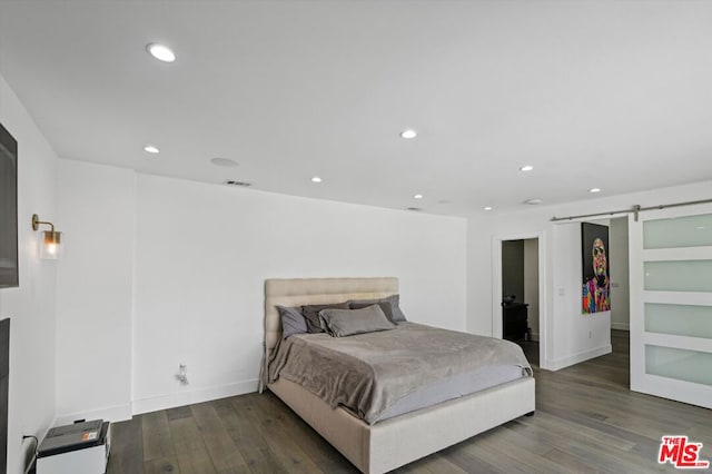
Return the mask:
M 55 299 L 57 261 L 40 260 L 31 216 L 57 220 L 57 156 L 0 76 L 0 122 L 18 140 L 19 288 L 0 289 L 0 318 L 10 317 L 8 473 L 24 470 L 31 443 L 55 418 Z

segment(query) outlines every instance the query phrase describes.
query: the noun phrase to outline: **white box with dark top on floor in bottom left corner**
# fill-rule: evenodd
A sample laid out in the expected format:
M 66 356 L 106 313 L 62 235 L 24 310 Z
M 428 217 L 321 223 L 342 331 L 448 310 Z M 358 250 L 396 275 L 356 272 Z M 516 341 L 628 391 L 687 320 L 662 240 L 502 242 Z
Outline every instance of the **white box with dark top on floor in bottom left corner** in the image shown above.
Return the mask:
M 103 474 L 109 448 L 109 422 L 52 428 L 38 450 L 37 474 Z

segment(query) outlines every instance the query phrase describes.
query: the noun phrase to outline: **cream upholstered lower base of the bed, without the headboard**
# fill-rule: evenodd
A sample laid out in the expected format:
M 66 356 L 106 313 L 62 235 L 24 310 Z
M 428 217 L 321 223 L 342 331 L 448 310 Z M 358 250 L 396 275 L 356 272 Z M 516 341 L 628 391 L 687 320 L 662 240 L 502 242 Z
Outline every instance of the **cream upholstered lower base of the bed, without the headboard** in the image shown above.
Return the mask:
M 534 412 L 534 386 L 526 377 L 373 426 L 289 381 L 268 387 L 362 472 L 379 474 Z

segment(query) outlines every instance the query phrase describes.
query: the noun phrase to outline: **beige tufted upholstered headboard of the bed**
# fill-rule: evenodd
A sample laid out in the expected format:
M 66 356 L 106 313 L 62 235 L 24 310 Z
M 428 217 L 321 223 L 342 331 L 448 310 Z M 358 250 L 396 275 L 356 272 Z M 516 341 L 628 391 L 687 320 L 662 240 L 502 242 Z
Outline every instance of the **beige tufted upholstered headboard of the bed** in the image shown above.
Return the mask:
M 281 337 L 281 319 L 276 305 L 301 306 L 342 303 L 348 299 L 383 298 L 398 293 L 398 278 L 289 278 L 265 280 L 265 356 L 260 382 L 267 361 Z

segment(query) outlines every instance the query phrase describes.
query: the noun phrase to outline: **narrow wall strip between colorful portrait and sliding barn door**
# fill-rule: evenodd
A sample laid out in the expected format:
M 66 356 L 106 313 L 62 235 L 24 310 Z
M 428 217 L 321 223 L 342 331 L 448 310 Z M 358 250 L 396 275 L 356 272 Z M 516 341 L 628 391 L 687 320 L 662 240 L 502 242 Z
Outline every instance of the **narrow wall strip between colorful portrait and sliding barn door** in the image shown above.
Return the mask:
M 629 283 L 627 218 L 611 219 L 609 228 L 611 264 L 611 327 L 630 329 L 631 288 Z

